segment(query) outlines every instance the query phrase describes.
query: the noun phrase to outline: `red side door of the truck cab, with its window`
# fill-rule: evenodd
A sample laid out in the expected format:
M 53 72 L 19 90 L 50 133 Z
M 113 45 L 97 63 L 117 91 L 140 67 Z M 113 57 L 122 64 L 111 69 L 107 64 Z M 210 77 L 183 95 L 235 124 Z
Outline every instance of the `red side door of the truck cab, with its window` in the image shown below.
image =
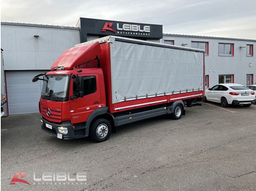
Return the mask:
M 77 92 L 78 82 L 75 78 L 73 83 L 73 99 L 70 101 L 71 123 L 86 122 L 87 118 L 95 109 L 98 109 L 100 103 L 100 88 L 98 74 L 86 74 L 81 77 L 83 97 Z M 80 96 L 80 97 L 79 97 Z

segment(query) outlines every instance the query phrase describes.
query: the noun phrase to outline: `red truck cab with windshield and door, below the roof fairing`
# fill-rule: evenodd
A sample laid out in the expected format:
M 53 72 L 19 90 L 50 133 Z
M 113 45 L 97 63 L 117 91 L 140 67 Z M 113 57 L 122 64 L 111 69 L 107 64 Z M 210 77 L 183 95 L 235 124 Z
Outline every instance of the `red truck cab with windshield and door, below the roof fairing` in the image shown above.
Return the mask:
M 43 77 L 39 101 L 42 128 L 60 139 L 86 136 L 84 123 L 89 115 L 105 107 L 102 69 L 51 71 Z

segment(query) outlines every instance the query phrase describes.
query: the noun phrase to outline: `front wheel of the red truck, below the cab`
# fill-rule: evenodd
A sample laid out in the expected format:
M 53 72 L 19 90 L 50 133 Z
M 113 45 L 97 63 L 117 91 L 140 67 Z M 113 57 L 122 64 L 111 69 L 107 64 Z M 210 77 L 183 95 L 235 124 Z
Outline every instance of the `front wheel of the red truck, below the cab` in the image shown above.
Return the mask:
M 98 119 L 92 122 L 90 128 L 90 139 L 95 142 L 106 141 L 111 133 L 111 124 L 108 120 Z

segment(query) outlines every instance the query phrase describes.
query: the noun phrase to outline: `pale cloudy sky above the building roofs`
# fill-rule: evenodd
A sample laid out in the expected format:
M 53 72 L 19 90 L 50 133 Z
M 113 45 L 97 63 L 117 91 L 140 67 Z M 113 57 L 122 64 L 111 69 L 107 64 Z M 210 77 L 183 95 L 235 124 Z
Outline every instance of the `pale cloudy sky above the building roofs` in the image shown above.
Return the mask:
M 75 26 L 80 17 L 158 24 L 165 34 L 256 39 L 255 0 L 1 0 L 1 22 Z

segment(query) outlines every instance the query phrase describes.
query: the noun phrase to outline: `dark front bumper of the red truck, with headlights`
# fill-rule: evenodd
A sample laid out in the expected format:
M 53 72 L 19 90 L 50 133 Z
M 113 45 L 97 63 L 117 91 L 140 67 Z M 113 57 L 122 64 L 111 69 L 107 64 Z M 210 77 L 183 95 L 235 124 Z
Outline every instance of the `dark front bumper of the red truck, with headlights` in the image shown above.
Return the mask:
M 86 137 L 86 128 L 80 127 L 78 130 L 74 130 L 73 125 L 70 122 L 62 122 L 61 124 L 56 124 L 45 120 L 41 116 L 42 125 L 41 128 L 47 133 L 50 133 L 53 136 L 56 136 L 58 139 L 78 139 Z M 48 126 L 48 127 L 47 127 Z M 50 127 L 50 128 L 49 128 Z M 60 133 L 58 128 L 65 127 L 67 128 L 67 134 Z M 75 127 L 77 128 L 77 127 Z

